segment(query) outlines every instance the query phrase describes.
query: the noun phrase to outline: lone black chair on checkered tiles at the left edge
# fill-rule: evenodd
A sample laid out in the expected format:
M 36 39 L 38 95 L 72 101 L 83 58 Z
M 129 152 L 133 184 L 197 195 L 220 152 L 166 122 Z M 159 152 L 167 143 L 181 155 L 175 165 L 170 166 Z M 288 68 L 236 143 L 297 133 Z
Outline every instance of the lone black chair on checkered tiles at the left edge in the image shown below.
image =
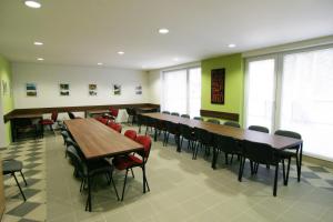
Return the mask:
M 23 169 L 23 163 L 21 161 L 17 161 L 17 160 L 3 160 L 2 161 L 2 174 L 3 175 L 10 174 L 10 175 L 12 175 L 16 179 L 16 182 L 17 182 L 17 184 L 18 184 L 18 186 L 20 189 L 20 192 L 21 192 L 21 194 L 23 196 L 23 200 L 27 201 L 26 195 L 24 195 L 24 193 L 23 193 L 23 191 L 21 189 L 21 185 L 20 185 L 20 183 L 19 183 L 19 181 L 18 181 L 18 179 L 16 176 L 16 172 L 20 172 L 21 175 L 22 175 L 22 179 L 23 179 L 23 181 L 26 183 L 26 186 L 28 185 L 28 183 L 26 181 L 26 178 L 24 178 L 24 175 L 22 173 L 22 169 Z

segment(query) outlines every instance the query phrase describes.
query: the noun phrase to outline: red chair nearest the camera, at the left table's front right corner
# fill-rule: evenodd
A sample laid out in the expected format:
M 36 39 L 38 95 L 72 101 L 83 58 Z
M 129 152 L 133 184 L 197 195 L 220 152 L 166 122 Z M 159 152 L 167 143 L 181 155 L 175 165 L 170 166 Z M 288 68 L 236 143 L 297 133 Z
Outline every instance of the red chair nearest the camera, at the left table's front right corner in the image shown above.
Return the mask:
M 121 200 L 123 200 L 129 170 L 132 171 L 132 169 L 137 168 L 137 167 L 142 169 L 143 192 L 145 191 L 145 185 L 148 188 L 148 191 L 150 191 L 150 188 L 149 188 L 149 184 L 148 184 L 148 181 L 147 181 L 147 176 L 145 176 L 145 163 L 148 161 L 149 153 L 150 153 L 150 150 L 151 150 L 151 139 L 148 135 L 138 135 L 135 141 L 143 145 L 144 152 L 139 153 L 139 155 L 141 158 L 138 158 L 135 154 L 128 154 L 128 155 L 122 155 L 122 157 L 115 157 L 112 161 L 115 169 L 127 170 L 124 182 L 123 182 Z M 132 173 L 133 173 L 133 171 L 132 171 Z M 133 176 L 134 176 L 134 174 L 133 174 Z

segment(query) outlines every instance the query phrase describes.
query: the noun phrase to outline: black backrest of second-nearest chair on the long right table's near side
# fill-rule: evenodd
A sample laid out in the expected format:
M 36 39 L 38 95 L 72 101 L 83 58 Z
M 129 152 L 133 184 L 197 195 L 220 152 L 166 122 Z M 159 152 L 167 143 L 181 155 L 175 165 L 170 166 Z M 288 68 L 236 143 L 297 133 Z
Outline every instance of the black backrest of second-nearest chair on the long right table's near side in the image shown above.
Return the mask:
M 225 153 L 240 153 L 241 149 L 236 140 L 231 137 L 214 134 L 214 145 Z

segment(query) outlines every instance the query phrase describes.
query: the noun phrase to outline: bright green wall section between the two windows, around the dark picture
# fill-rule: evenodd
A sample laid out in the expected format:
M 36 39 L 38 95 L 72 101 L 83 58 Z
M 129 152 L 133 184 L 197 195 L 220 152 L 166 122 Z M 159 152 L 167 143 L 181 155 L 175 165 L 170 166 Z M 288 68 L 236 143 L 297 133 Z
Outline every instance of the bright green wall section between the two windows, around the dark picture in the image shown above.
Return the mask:
M 211 103 L 211 70 L 225 69 L 224 104 Z M 201 61 L 201 109 L 240 114 L 243 123 L 244 71 L 241 53 L 229 54 Z

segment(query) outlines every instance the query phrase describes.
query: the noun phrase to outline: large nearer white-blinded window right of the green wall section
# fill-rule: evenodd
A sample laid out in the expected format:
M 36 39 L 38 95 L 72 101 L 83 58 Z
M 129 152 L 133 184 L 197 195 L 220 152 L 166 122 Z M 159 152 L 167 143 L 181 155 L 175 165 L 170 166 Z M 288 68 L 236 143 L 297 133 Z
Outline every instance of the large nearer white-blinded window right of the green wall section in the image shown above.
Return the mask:
M 333 160 L 332 47 L 249 59 L 246 85 L 246 125 L 299 132 L 304 153 Z

